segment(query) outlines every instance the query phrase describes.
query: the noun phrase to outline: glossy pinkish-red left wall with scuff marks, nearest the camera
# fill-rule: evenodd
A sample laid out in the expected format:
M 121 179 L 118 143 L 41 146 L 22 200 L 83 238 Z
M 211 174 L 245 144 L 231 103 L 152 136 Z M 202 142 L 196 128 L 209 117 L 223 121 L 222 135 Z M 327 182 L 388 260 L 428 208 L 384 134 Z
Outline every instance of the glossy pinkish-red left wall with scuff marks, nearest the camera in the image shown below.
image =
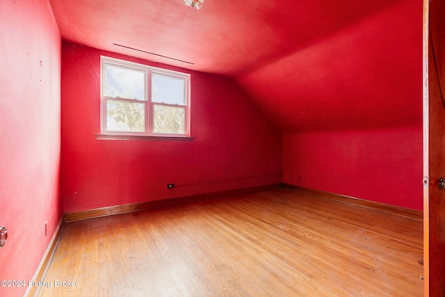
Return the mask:
M 0 1 L 0 19 L 0 280 L 27 282 L 62 214 L 60 33 L 47 0 Z M 0 296 L 25 290 L 0 287 Z

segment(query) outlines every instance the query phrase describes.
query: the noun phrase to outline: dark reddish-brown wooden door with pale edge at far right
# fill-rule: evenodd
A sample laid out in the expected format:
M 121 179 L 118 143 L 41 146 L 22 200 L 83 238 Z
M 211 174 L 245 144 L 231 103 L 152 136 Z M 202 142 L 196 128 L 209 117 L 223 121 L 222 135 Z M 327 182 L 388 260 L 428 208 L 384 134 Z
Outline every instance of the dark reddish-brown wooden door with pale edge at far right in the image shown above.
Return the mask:
M 423 1 L 424 295 L 445 296 L 445 1 Z

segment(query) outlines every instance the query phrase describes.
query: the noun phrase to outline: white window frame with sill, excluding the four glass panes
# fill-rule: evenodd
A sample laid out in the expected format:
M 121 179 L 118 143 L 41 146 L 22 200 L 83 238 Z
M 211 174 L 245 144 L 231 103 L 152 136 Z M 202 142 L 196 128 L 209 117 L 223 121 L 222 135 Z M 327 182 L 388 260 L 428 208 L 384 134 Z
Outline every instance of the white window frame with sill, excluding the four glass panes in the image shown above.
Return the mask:
M 149 65 L 133 63 L 129 61 L 120 60 L 117 58 L 110 58 L 108 56 L 100 56 L 100 70 L 101 70 L 101 83 L 100 83 L 100 134 L 97 134 L 97 139 L 161 139 L 161 138 L 190 138 L 191 137 L 191 100 L 190 100 L 190 77 L 191 75 L 184 72 L 177 72 L 173 70 L 166 70 L 159 67 L 152 67 Z M 117 67 L 127 68 L 129 70 L 138 70 L 145 74 L 145 90 L 144 99 L 124 99 L 108 97 L 104 95 L 105 83 L 105 65 L 113 65 Z M 175 77 L 184 79 L 184 98 L 185 105 L 181 104 L 166 104 L 159 102 L 152 102 L 152 74 L 162 74 L 167 77 Z M 107 102 L 108 100 L 120 100 L 124 102 L 137 102 L 145 104 L 145 131 L 111 131 L 108 130 L 107 125 Z M 154 132 L 154 106 L 175 106 L 184 108 L 184 134 L 172 134 L 172 133 L 155 133 Z

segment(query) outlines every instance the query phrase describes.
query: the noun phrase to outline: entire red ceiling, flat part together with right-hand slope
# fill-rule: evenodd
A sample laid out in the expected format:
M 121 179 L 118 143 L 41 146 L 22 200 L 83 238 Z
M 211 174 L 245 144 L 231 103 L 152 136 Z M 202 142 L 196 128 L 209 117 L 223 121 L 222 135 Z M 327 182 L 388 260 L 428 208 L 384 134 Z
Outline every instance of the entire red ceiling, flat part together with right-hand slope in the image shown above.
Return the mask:
M 421 125 L 421 0 L 49 0 L 66 40 L 232 77 L 282 131 Z

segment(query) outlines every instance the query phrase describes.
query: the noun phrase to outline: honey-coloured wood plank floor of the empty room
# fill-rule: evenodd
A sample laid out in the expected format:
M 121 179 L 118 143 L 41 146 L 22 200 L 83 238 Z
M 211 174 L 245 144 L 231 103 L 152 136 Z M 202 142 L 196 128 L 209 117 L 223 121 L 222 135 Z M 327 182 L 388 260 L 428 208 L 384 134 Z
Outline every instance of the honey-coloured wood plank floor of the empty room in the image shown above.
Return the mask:
M 66 223 L 38 296 L 422 296 L 422 262 L 421 220 L 277 188 Z

